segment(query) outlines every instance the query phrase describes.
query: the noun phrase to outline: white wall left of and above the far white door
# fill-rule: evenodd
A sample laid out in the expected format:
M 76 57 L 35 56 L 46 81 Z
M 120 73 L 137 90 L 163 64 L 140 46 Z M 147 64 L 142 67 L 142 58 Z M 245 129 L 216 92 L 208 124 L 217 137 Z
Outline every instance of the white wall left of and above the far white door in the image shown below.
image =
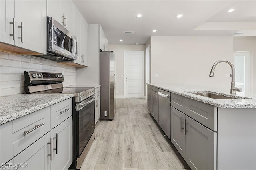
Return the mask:
M 109 44 L 108 49 L 114 51 L 116 57 L 116 95 L 124 96 L 124 51 L 145 51 L 145 45 Z

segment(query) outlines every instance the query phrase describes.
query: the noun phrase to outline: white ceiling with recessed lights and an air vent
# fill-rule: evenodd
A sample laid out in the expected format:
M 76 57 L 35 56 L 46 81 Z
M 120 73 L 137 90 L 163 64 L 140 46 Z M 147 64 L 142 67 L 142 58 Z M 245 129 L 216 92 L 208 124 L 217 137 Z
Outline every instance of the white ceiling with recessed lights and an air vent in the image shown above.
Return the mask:
M 110 44 L 145 44 L 150 36 L 256 36 L 256 0 L 75 0 Z M 234 8 L 234 12 L 227 12 Z M 136 18 L 136 14 L 142 18 Z M 182 18 L 176 18 L 183 14 Z M 157 32 L 152 32 L 152 30 Z M 134 34 L 124 34 L 134 31 Z M 122 39 L 123 42 L 119 42 Z

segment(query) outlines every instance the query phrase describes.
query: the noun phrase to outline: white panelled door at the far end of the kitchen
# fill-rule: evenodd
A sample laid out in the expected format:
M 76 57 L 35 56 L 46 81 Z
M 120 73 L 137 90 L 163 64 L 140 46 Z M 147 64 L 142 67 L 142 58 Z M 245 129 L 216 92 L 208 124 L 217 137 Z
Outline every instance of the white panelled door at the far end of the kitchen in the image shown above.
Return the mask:
M 144 51 L 124 51 L 124 96 L 142 98 Z

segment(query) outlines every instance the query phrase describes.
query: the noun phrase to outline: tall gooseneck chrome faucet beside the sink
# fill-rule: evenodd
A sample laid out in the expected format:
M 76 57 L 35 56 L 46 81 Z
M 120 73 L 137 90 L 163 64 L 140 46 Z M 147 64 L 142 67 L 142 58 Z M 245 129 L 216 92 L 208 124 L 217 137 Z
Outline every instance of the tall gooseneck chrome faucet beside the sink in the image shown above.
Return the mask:
M 230 88 L 230 94 L 236 94 L 237 91 L 241 92 L 242 89 L 240 88 L 237 88 L 235 87 L 235 67 L 234 65 L 230 62 L 230 61 L 227 61 L 227 60 L 219 60 L 219 61 L 216 61 L 213 65 L 212 65 L 212 69 L 211 69 L 211 72 L 209 74 L 209 77 L 214 77 L 214 71 L 215 71 L 215 67 L 218 63 L 228 63 L 231 67 L 231 88 Z

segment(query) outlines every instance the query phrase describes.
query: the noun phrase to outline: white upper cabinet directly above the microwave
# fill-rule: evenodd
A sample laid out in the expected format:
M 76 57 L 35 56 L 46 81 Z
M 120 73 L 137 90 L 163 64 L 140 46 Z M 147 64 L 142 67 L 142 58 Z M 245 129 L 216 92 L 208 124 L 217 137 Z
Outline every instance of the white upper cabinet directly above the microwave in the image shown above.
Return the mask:
M 48 0 L 47 16 L 62 24 L 68 31 L 74 30 L 74 4 L 71 0 Z

